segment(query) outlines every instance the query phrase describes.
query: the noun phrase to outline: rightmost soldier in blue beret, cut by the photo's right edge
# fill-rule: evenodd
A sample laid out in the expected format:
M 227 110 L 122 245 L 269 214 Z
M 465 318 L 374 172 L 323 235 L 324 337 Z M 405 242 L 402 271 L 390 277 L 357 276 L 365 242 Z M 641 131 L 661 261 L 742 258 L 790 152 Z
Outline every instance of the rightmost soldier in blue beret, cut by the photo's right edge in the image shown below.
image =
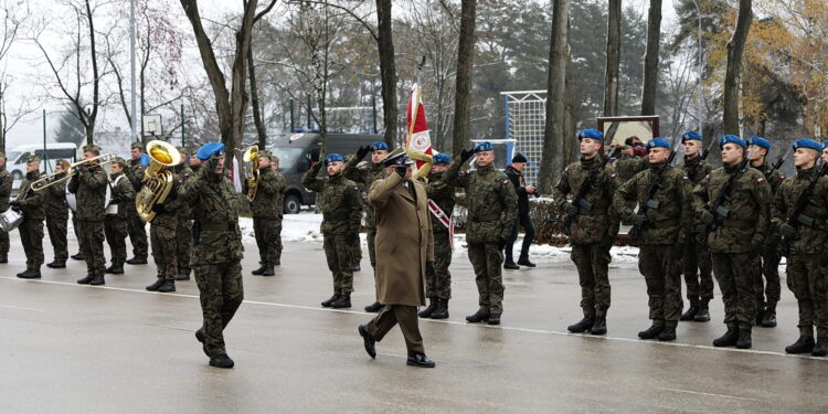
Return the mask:
M 772 226 L 787 247 L 787 284 L 799 307 L 799 339 L 788 353 L 828 354 L 828 275 L 825 273 L 828 243 L 828 178 L 816 167 L 822 146 L 813 139 L 794 141 L 796 177 L 779 185 L 772 206 Z M 816 181 L 807 206 L 793 217 L 805 190 Z M 793 219 L 793 220 L 792 220 Z M 792 224 L 795 223 L 795 224 Z M 818 340 L 814 341 L 814 327 Z

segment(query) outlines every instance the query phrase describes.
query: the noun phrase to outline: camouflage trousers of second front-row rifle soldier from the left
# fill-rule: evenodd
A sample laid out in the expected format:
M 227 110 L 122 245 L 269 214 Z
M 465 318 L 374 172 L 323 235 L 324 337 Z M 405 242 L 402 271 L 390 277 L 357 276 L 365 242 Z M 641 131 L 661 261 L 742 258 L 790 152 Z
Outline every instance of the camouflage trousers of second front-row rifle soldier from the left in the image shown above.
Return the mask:
M 676 326 L 681 316 L 680 257 L 673 256 L 672 245 L 643 244 L 638 254 L 638 269 L 647 283 L 650 319 L 656 323 Z

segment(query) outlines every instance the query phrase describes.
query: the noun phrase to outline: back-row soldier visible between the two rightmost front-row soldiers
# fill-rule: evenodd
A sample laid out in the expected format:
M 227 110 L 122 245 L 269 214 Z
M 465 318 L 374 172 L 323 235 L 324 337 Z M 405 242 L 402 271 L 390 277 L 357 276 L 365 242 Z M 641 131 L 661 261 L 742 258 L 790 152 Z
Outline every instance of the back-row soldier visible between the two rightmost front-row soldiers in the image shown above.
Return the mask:
M 771 151 L 771 141 L 762 137 L 747 138 L 747 151 L 751 153 L 751 167 L 762 172 L 771 185 L 767 203 L 772 204 L 774 194 L 785 181 L 778 170 L 774 170 L 766 161 Z M 754 261 L 754 283 L 756 290 L 756 326 L 773 328 L 776 326 L 776 302 L 779 301 L 782 284 L 779 283 L 779 262 L 782 255 L 778 250 L 779 234 L 775 229 L 768 229 L 762 251 Z M 764 280 L 762 276 L 764 277 Z M 764 282 L 767 282 L 765 285 Z

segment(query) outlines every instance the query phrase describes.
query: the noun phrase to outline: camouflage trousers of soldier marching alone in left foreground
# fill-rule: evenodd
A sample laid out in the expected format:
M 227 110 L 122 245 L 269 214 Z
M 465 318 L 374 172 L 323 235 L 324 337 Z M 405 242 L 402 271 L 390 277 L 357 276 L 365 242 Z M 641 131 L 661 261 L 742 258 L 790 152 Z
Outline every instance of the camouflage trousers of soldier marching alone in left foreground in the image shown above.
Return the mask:
M 244 300 L 242 263 L 232 261 L 222 264 L 194 265 L 195 284 L 199 285 L 202 328 L 210 357 L 227 353 L 224 348 L 224 328 L 233 319 Z

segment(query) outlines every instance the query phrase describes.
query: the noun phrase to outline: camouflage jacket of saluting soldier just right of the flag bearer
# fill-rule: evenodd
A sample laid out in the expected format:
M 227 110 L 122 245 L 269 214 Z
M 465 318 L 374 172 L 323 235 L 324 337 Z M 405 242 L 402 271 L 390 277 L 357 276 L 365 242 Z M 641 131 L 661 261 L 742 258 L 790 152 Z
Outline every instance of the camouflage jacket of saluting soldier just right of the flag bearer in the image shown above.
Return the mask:
M 447 185 L 466 190 L 466 241 L 482 244 L 508 240 L 518 219 L 514 185 L 506 173 L 496 170 L 492 164 L 475 171 L 460 171 L 464 163 L 459 158 L 455 159 L 443 179 Z

